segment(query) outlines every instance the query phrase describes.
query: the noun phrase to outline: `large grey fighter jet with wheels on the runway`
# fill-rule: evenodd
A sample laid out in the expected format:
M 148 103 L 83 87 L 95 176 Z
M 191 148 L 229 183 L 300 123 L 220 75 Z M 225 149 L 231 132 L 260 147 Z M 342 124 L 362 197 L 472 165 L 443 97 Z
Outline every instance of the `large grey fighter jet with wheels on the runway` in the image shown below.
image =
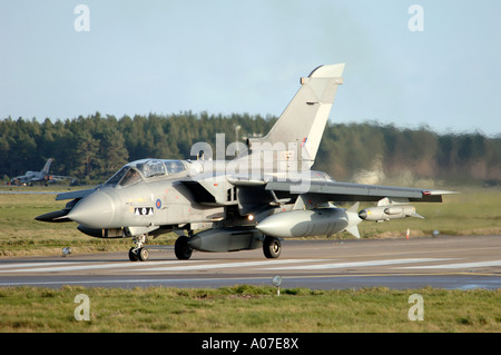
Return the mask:
M 301 78 L 297 93 L 264 137 L 225 148 L 218 136 L 216 159 L 129 162 L 96 188 L 58 195 L 57 200 L 69 200 L 66 208 L 36 219 L 76 221 L 92 237 L 130 237 L 129 259 L 136 262 L 148 258 L 151 238 L 169 231 L 178 235 L 178 259 L 189 259 L 193 250 L 256 248 L 277 258 L 283 238 L 343 230 L 360 238 L 362 220 L 421 217 L 412 203 L 441 203 L 450 191 L 340 183 L 311 169 L 343 70 L 344 63 L 321 66 Z M 200 151 L 213 157 L 208 144 L 195 144 L 191 156 Z M 336 206 L 345 201 L 353 205 Z M 376 206 L 358 210 L 361 201 Z

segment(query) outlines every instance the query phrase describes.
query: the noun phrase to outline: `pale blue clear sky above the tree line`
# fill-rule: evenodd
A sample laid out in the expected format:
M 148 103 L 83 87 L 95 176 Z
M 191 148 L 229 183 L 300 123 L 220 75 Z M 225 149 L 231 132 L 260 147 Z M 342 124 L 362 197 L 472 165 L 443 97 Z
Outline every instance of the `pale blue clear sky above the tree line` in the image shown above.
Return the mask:
M 331 122 L 499 136 L 500 12 L 499 0 L 0 0 L 0 119 L 279 116 L 301 77 L 345 62 Z

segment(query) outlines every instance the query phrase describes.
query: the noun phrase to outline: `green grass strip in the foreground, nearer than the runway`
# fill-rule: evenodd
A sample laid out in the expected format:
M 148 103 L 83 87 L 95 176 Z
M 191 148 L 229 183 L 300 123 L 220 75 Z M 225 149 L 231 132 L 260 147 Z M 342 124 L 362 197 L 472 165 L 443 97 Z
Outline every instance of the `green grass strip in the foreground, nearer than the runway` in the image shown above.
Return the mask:
M 90 321 L 76 321 L 78 294 Z M 424 299 L 411 322 L 409 297 Z M 501 290 L 0 288 L 0 332 L 501 332 Z M 228 312 L 230 309 L 230 312 Z

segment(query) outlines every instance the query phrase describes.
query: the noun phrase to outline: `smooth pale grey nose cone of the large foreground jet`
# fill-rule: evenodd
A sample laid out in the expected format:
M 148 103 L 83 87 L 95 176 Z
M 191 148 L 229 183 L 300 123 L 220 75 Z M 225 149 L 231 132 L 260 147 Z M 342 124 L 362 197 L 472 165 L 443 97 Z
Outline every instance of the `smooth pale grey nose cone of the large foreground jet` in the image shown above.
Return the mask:
M 68 218 L 91 228 L 110 227 L 115 216 L 115 204 L 108 194 L 96 191 L 79 201 Z

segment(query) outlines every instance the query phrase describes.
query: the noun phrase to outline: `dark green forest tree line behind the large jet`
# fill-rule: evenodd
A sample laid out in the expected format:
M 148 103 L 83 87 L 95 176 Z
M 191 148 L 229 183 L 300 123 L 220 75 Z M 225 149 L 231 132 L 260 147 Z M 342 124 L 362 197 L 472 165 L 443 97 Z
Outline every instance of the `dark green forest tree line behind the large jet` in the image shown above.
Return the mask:
M 215 147 L 266 135 L 276 117 L 248 114 L 209 115 L 191 111 L 134 117 L 99 112 L 66 120 L 0 120 L 0 178 L 6 183 L 27 170 L 41 170 L 55 158 L 50 174 L 77 177 L 81 184 L 104 183 L 128 161 L 143 158 L 196 159 L 197 141 Z M 215 151 L 215 148 L 214 148 Z M 228 159 L 233 157 L 227 157 Z M 336 180 L 382 184 L 420 180 L 454 184 L 501 184 L 501 135 L 442 134 L 380 125 L 328 122 L 314 169 Z

